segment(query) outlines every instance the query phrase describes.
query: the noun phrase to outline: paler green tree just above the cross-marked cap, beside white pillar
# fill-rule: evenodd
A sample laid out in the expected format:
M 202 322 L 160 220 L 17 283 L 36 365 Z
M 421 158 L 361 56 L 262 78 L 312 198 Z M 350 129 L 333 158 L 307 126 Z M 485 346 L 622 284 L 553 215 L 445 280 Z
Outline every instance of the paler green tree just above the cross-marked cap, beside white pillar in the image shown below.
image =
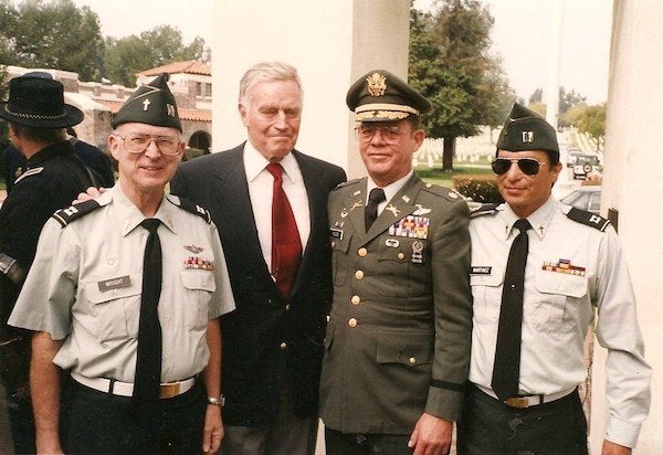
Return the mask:
M 104 76 L 116 84 L 134 86 L 136 73 L 167 63 L 197 60 L 209 61 L 204 40 L 197 36 L 190 44 L 182 44 L 182 33 L 170 25 L 158 25 L 139 36 L 106 39 Z

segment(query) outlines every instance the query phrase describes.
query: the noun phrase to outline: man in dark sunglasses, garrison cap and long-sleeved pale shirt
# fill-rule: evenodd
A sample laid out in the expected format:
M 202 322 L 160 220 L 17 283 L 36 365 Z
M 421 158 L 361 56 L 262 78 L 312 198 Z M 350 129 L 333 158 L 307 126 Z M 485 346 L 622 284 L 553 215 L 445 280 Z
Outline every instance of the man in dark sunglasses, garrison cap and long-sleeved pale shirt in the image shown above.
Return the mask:
M 629 454 L 651 370 L 617 233 L 552 198 L 557 135 L 536 113 L 514 105 L 492 167 L 505 203 L 470 222 L 474 324 L 459 454 L 587 454 L 578 385 L 592 325 L 609 351 L 602 453 Z

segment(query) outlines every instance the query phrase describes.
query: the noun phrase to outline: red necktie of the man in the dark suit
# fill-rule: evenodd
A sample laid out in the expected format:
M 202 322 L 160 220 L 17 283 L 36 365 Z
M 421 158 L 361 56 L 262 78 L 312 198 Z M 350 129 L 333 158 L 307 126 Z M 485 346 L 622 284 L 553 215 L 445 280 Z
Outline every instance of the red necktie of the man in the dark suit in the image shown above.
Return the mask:
M 278 163 L 267 165 L 267 171 L 274 176 L 272 193 L 272 275 L 276 287 L 284 297 L 290 296 L 293 288 L 299 260 L 302 258 L 302 241 L 293 209 L 283 191 L 283 168 Z

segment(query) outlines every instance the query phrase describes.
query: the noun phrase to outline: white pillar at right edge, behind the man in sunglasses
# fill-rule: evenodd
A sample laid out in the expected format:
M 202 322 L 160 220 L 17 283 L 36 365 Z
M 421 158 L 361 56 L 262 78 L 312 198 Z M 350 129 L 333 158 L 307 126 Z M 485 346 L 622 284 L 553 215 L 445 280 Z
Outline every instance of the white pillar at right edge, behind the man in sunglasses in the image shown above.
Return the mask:
M 601 211 L 619 212 L 619 236 L 638 298 L 645 357 L 653 368 L 652 409 L 636 454 L 663 447 L 663 3 L 615 0 L 608 93 L 608 118 Z M 606 351 L 596 347 L 590 442 L 600 453 L 607 403 Z

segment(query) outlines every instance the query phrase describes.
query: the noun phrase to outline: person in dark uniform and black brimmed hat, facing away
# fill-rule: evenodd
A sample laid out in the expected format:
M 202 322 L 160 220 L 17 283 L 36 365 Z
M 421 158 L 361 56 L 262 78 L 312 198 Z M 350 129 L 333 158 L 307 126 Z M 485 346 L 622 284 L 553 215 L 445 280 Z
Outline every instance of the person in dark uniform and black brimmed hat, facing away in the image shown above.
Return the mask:
M 65 128 L 80 124 L 83 113 L 64 103 L 64 88 L 41 72 L 14 77 L 0 118 L 25 157 L 25 171 L 0 209 L 0 373 L 19 454 L 34 453 L 34 421 L 30 403 L 30 335 L 7 325 L 28 269 L 34 260 L 42 226 L 59 209 L 69 207 L 93 179 L 66 140 Z

